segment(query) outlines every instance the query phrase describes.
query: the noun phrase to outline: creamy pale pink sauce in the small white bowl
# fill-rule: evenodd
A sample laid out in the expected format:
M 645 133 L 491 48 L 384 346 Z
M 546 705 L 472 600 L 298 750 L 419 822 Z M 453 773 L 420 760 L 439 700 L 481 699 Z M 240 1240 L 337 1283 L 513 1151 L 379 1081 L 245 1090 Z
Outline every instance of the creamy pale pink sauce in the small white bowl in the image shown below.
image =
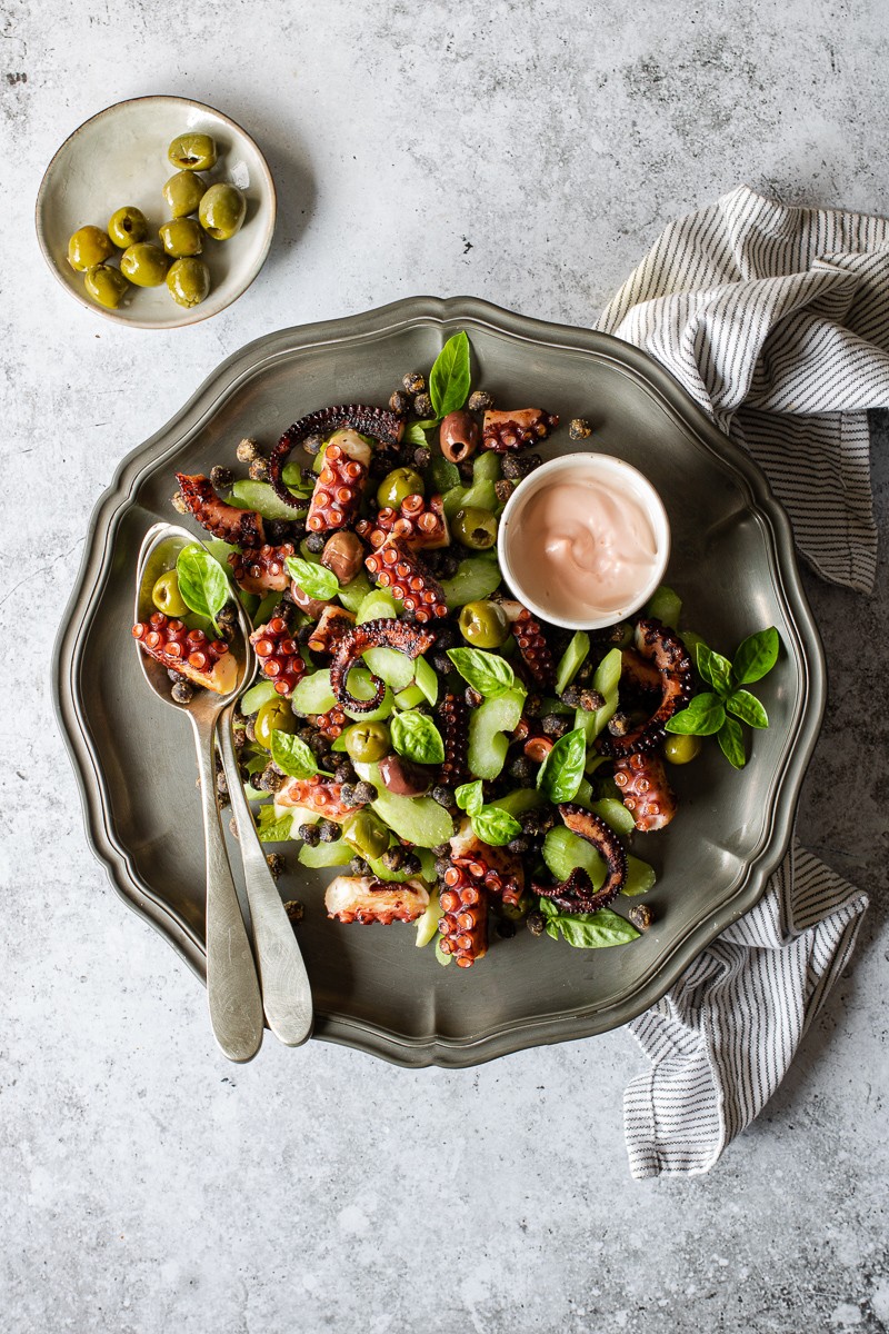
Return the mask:
M 553 479 L 522 510 L 512 552 L 516 582 L 560 620 L 590 620 L 632 606 L 657 566 L 641 503 L 592 478 Z

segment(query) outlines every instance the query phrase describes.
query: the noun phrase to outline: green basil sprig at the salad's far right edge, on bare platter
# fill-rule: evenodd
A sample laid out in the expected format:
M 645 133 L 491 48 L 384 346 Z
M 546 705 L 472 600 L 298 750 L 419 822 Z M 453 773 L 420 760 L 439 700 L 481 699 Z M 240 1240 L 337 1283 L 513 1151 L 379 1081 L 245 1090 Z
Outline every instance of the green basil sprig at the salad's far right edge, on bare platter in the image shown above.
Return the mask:
M 680 736 L 716 736 L 729 764 L 744 768 L 746 751 L 741 723 L 764 728 L 769 726 L 769 715 L 756 695 L 742 687 L 772 671 L 780 648 L 781 638 L 774 626 L 748 635 L 732 662 L 698 643 L 697 670 L 713 688 L 694 695 L 688 708 L 673 714 L 666 731 Z

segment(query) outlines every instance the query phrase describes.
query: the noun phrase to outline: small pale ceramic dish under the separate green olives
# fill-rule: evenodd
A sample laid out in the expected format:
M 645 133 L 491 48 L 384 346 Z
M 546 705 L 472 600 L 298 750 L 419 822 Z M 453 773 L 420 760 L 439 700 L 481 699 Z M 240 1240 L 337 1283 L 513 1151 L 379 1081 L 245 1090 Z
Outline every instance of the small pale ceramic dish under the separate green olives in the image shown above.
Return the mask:
M 157 228 L 169 217 L 161 189 L 176 171 L 167 149 L 188 131 L 212 135 L 217 144 L 217 163 L 200 173 L 204 180 L 231 181 L 247 196 L 247 219 L 237 235 L 228 241 L 204 241 L 209 295 L 200 305 L 185 308 L 163 283 L 131 287 L 116 309 L 99 305 L 87 295 L 84 275 L 68 263 L 69 236 L 88 224 L 104 231 L 117 208 L 135 204 L 148 219 L 147 239 L 160 244 Z M 36 227 L 47 264 L 79 301 L 119 324 L 165 329 L 217 315 L 251 285 L 272 244 L 275 212 L 272 173 L 240 125 L 188 97 L 135 97 L 100 111 L 64 141 L 40 184 Z

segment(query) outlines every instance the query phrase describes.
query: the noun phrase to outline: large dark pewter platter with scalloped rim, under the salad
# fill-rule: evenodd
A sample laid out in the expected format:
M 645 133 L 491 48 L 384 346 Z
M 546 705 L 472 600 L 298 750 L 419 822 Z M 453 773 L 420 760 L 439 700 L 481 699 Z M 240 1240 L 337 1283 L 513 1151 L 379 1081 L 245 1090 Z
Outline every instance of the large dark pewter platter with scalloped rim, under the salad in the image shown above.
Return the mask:
M 333 403 L 385 403 L 400 376 L 428 368 L 465 329 L 473 383 L 504 406 L 562 423 L 588 418 L 590 448 L 650 478 L 669 515 L 668 582 L 684 622 L 732 652 L 774 624 L 777 667 L 757 684 L 772 726 L 740 772 L 714 743 L 673 770 L 669 828 L 636 835 L 658 874 L 654 924 L 632 944 L 573 950 L 492 932 L 473 968 L 443 968 L 411 927 L 340 926 L 324 912 L 329 871 L 291 856 L 285 898 L 300 926 L 315 1035 L 407 1066 L 469 1066 L 536 1043 L 626 1023 L 760 898 L 790 836 L 824 708 L 818 638 L 800 587 L 788 519 L 758 468 L 645 354 L 604 334 L 524 319 L 484 301 L 417 297 L 349 319 L 285 329 L 229 358 L 163 431 L 121 464 L 92 519 L 56 652 L 56 699 L 80 776 L 87 830 L 123 898 L 204 970 L 203 840 L 188 722 L 145 690 L 129 638 L 145 531 L 171 518 L 173 472 L 233 462 L 245 436 L 271 444 Z M 576 452 L 560 427 L 546 456 Z M 237 858 L 233 858 L 237 866 Z M 299 1057 L 296 1058 L 299 1061 Z

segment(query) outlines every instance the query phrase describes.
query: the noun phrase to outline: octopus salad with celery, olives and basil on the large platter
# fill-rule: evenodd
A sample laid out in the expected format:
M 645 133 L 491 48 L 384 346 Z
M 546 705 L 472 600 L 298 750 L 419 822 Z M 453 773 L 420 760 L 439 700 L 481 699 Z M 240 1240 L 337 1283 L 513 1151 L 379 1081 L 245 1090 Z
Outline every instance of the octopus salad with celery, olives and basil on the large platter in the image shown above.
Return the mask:
M 259 679 L 235 738 L 260 839 L 331 868 L 332 919 L 412 922 L 445 964 L 520 923 L 581 948 L 634 940 L 656 880 L 636 835 L 676 816 L 669 766 L 713 735 L 740 768 L 742 724 L 768 726 L 748 687 L 777 660 L 773 627 L 728 659 L 680 628 L 666 586 L 570 632 L 504 582 L 500 516 L 557 428 L 473 391 L 457 334 L 385 408 L 313 411 L 268 452 L 241 440 L 245 478 L 177 474 L 175 508 L 211 539 L 180 552 L 133 627 L 187 707 L 228 688 L 241 599 Z

